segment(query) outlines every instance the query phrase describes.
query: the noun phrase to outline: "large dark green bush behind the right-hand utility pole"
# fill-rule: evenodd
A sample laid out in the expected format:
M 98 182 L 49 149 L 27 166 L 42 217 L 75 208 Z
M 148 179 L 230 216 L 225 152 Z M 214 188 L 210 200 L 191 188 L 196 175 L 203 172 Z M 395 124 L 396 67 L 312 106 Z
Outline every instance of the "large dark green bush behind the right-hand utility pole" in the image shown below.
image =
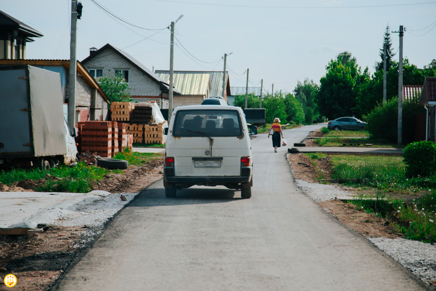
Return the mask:
M 403 143 L 411 143 L 414 139 L 415 117 L 424 111 L 419 105 L 419 99 L 403 102 Z M 398 136 L 398 98 L 392 98 L 386 103 L 380 103 L 366 116 L 367 129 L 373 139 L 387 139 L 397 142 Z

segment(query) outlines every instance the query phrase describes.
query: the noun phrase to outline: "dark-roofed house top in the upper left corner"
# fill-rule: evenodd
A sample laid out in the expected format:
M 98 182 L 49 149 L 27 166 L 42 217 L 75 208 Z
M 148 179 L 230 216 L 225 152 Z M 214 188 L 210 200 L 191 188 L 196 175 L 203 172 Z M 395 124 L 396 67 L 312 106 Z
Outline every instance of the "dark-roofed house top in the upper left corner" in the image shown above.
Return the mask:
M 26 59 L 26 43 L 41 32 L 0 11 L 0 59 Z

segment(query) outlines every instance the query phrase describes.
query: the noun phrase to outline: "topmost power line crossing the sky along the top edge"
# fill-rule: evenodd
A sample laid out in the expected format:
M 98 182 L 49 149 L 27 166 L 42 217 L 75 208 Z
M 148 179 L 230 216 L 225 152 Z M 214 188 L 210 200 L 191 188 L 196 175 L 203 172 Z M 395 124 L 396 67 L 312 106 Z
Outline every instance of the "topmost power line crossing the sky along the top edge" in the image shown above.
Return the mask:
M 180 4 L 193 4 L 193 5 L 206 5 L 206 6 L 224 6 L 224 7 L 243 7 L 243 8 L 278 8 L 278 9 L 344 9 L 344 8 L 374 8 L 374 7 L 394 7 L 394 6 L 411 6 L 411 5 L 425 5 L 435 4 L 436 2 L 425 3 L 409 3 L 409 4 L 389 4 L 389 5 L 366 5 L 366 6 L 315 6 L 315 7 L 303 7 L 303 6 L 252 6 L 252 5 L 228 5 L 228 4 L 211 4 L 211 3 L 198 3 L 198 2 L 186 2 L 186 1 L 173 1 L 173 0 L 155 0 L 161 2 L 171 2 Z

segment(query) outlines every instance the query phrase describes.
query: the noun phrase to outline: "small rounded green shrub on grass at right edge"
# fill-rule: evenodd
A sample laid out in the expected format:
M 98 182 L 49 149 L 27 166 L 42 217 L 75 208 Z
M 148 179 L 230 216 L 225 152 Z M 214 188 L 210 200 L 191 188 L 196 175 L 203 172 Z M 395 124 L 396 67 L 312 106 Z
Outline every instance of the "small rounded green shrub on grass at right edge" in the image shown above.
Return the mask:
M 429 177 L 436 173 L 436 145 L 433 142 L 415 142 L 406 146 L 403 152 L 408 177 Z

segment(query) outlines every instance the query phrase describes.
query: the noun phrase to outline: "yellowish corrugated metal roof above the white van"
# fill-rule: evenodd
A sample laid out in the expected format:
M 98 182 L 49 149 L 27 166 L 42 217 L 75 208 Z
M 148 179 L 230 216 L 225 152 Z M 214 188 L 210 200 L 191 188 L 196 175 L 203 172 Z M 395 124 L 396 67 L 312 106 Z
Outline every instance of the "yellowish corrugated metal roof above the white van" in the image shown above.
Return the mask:
M 158 73 L 156 75 L 166 83 L 170 82 L 170 73 Z M 174 72 L 174 88 L 182 95 L 204 95 L 207 96 L 209 87 L 209 73 L 180 73 Z

